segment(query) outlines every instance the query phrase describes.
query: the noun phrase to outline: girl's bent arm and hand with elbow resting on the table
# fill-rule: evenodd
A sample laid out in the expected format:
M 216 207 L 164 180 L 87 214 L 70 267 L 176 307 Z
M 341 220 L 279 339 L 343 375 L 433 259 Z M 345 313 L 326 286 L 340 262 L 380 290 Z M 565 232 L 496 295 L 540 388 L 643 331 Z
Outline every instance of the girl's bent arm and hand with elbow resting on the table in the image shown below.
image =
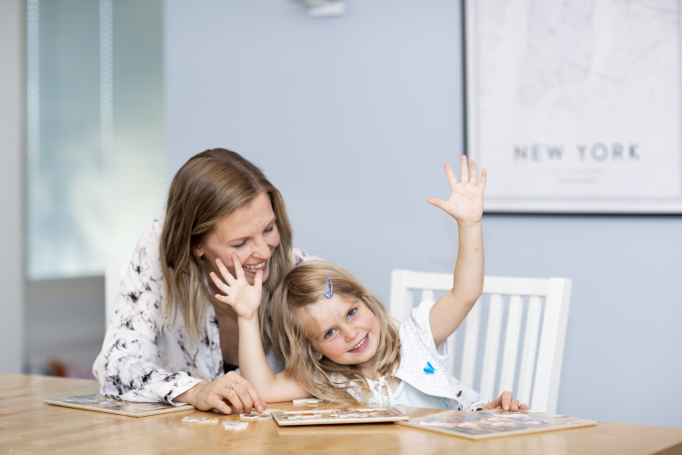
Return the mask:
M 284 372 L 273 374 L 267 363 L 258 324 L 263 271 L 256 272 L 254 285 L 251 286 L 246 281 L 239 258 L 233 255 L 232 260 L 235 264 L 236 278 L 230 274 L 220 259 L 216 259 L 216 265 L 227 284 L 213 272 L 211 278 L 217 288 L 226 293 L 225 296 L 216 294 L 216 298 L 236 311 L 239 328 L 239 369 L 242 376 L 256 387 L 258 395 L 266 402 L 309 398 L 310 393 L 301 387 L 296 379 L 286 376 Z

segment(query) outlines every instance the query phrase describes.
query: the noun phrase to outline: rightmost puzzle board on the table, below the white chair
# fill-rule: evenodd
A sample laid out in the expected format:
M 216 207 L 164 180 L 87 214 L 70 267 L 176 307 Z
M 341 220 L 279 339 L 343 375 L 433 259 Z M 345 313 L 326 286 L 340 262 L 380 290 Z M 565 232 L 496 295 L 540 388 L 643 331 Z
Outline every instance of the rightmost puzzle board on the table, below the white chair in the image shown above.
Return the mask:
M 594 420 L 529 410 L 480 410 L 476 412 L 451 410 L 398 423 L 467 440 L 488 440 L 597 425 Z

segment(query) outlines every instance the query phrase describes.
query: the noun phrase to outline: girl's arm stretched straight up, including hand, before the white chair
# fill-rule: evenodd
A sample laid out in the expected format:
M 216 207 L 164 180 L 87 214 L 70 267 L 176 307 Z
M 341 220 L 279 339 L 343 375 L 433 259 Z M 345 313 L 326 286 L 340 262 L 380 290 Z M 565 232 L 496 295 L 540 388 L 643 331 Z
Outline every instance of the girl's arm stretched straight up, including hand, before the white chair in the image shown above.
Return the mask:
M 462 182 L 457 183 L 455 174 L 446 163 L 447 181 L 450 184 L 449 200 L 428 199 L 430 204 L 442 208 L 457 222 L 459 248 L 452 278 L 452 289 L 438 298 L 431 308 L 429 322 L 436 346 L 459 327 L 466 318 L 483 290 L 484 252 L 483 230 L 483 191 L 486 187 L 486 169 L 481 171 L 481 181 L 476 184 L 476 163 L 470 162 L 471 177 L 462 156 Z

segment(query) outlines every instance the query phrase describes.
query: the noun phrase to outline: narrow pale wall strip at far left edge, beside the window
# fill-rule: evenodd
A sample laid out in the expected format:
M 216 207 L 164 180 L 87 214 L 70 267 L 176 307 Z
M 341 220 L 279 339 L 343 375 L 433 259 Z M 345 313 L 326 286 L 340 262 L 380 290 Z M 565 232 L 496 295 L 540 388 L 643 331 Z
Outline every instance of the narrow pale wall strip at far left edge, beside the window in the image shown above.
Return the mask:
M 25 2 L 0 2 L 0 371 L 22 370 L 25 352 L 22 227 Z

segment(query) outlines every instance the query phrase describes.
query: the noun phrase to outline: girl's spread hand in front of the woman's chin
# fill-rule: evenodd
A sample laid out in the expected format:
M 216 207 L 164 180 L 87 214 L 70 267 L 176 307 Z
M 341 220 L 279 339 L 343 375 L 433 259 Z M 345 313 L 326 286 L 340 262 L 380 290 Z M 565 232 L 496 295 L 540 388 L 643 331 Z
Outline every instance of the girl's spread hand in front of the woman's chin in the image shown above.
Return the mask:
M 232 255 L 232 263 L 235 267 L 236 278 L 227 270 L 223 261 L 216 259 L 218 270 L 226 280 L 226 283 L 223 282 L 215 273 L 211 272 L 211 279 L 216 283 L 216 287 L 226 294 L 225 296 L 216 294 L 216 299 L 234 308 L 239 318 L 253 319 L 254 316 L 257 318 L 260 298 L 263 293 L 263 270 L 256 271 L 254 284 L 251 286 L 246 281 L 244 269 L 236 254 Z

